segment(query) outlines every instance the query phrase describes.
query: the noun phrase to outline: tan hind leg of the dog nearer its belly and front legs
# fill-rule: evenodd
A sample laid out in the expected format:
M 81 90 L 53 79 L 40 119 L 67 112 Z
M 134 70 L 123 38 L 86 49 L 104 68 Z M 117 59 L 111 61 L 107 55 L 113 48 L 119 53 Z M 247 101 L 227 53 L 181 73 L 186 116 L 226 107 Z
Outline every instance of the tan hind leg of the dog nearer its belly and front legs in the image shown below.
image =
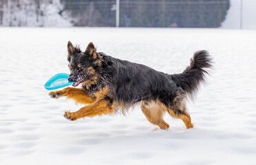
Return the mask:
M 165 111 L 156 102 L 144 102 L 141 109 L 149 122 L 159 126 L 160 129 L 169 129 L 169 124 L 162 118 Z

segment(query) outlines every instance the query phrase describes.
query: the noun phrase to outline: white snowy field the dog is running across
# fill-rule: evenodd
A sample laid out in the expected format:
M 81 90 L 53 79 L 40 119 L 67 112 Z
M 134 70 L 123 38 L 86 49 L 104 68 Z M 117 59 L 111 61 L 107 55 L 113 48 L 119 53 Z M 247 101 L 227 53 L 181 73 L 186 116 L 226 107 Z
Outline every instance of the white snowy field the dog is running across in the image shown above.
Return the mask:
M 0 164 L 255 164 L 256 31 L 139 28 L 1 28 Z M 126 116 L 69 121 L 82 105 L 48 96 L 45 82 L 69 73 L 67 41 L 84 51 L 182 72 L 196 50 L 215 61 L 208 85 L 189 103 L 193 129 L 164 116 L 150 124 L 139 108 Z

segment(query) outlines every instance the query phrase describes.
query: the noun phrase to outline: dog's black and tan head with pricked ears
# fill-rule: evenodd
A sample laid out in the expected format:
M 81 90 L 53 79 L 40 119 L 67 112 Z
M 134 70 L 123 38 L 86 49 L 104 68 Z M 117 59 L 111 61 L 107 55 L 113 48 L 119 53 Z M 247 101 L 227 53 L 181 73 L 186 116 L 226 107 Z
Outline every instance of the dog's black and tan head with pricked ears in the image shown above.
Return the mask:
M 69 81 L 74 82 L 74 87 L 89 80 L 96 75 L 96 68 L 100 65 L 100 54 L 96 53 L 93 43 L 89 43 L 85 52 L 81 52 L 79 47 L 74 47 L 69 41 L 67 43 L 67 61 L 70 68 Z

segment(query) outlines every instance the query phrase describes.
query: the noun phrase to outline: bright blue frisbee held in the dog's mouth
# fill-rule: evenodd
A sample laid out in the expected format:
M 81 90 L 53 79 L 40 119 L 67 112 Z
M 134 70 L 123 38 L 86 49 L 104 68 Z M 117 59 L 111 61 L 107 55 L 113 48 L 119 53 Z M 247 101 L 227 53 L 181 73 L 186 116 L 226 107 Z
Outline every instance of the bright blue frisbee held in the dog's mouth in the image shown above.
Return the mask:
M 61 87 L 66 87 L 69 85 L 74 84 L 74 82 L 70 82 L 67 80 L 69 74 L 56 74 L 55 76 L 52 76 L 50 80 L 48 80 L 45 83 L 45 89 L 52 90 L 52 89 L 58 89 Z

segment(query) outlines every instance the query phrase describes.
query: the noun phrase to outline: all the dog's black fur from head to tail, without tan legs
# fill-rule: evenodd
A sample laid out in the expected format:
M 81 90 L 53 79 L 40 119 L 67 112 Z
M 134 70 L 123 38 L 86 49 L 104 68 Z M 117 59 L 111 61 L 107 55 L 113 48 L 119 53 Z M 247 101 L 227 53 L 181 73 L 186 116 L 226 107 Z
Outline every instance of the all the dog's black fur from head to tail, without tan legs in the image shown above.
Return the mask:
M 98 75 L 96 83 L 90 87 L 83 85 L 86 94 L 94 96 L 96 91 L 109 87 L 105 100 L 109 100 L 110 103 L 117 101 L 127 104 L 127 107 L 140 101 L 160 100 L 173 111 L 178 111 L 180 109 L 177 109 L 177 104 L 181 104 L 186 94 L 193 98 L 200 83 L 204 82 L 205 74 L 208 74 L 204 68 L 211 67 L 211 58 L 205 50 L 195 52 L 191 65 L 186 67 L 182 74 L 169 75 L 145 65 L 122 61 L 104 53 L 96 53 L 96 50 L 92 51 L 92 47 L 94 45 L 89 44 L 84 53 L 76 47 L 70 62 L 82 65 L 84 71 L 78 71 L 78 67 L 74 66 L 70 77 L 74 77 L 74 80 L 78 80 L 79 77 L 90 80 Z M 97 61 L 100 61 L 100 65 L 96 65 Z M 89 67 L 94 69 L 95 74 L 88 74 Z

